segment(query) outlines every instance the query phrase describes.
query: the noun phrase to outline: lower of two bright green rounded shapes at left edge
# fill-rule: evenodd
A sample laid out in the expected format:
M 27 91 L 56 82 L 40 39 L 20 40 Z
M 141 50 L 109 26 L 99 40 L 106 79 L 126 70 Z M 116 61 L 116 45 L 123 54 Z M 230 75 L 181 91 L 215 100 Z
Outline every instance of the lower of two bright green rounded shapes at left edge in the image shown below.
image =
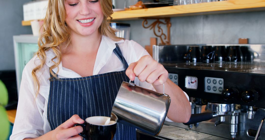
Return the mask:
M 0 106 L 0 139 L 7 139 L 10 130 L 10 122 L 7 118 L 6 109 Z

